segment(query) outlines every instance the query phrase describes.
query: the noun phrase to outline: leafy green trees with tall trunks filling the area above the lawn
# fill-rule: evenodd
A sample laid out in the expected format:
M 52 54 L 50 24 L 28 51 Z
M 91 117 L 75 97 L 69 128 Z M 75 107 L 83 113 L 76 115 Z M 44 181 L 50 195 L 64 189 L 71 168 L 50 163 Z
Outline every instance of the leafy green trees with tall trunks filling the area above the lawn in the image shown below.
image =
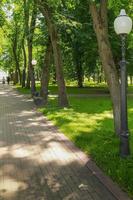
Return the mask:
M 49 80 L 58 85 L 59 105 L 68 106 L 65 80 L 84 77 L 106 79 L 114 113 L 115 131 L 120 133 L 119 38 L 113 21 L 121 7 L 131 14 L 133 6 L 124 0 L 3 0 L 1 14 L 1 65 L 13 76 L 14 84 L 40 95 L 47 103 Z M 132 77 L 133 34 L 128 38 L 129 75 Z M 32 60 L 37 60 L 37 66 Z M 103 75 L 104 72 L 104 75 Z M 117 96 L 116 96 L 117 94 Z

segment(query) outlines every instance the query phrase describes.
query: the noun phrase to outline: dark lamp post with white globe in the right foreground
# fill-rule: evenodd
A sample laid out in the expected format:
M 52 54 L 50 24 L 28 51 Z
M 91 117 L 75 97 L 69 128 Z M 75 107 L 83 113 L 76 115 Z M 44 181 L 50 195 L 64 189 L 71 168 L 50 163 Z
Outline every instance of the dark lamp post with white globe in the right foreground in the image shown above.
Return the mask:
M 132 20 L 126 15 L 124 9 L 114 21 L 115 32 L 121 37 L 122 60 L 120 62 L 121 71 L 121 133 L 120 133 L 120 156 L 130 155 L 129 131 L 127 117 L 127 70 L 125 60 L 125 40 L 127 34 L 132 30 Z

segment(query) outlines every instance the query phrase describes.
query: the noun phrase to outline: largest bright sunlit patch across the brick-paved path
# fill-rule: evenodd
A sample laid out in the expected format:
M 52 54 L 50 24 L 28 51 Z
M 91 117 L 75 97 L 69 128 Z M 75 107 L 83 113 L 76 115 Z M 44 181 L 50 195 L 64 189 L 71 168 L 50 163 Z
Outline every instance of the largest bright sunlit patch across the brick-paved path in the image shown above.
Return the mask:
M 47 145 L 44 146 L 44 142 Z M 54 141 L 54 136 L 44 137 L 42 134 L 42 140 L 37 144 L 15 144 L 11 147 L 0 148 L 1 158 L 4 156 L 12 158 L 25 158 L 43 164 L 49 162 L 57 162 L 59 166 L 63 166 L 66 163 L 71 163 L 75 160 L 74 154 L 64 146 Z M 53 154 L 52 152 L 56 152 Z M 49 156 L 49 154 L 51 156 Z M 57 160 L 60 158 L 60 161 Z

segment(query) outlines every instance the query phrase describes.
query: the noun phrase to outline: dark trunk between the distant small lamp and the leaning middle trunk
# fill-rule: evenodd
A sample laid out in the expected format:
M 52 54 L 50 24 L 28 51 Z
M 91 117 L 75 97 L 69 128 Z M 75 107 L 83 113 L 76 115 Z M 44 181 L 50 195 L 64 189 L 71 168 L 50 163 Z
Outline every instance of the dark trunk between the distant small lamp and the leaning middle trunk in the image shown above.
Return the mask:
M 49 83 L 49 67 L 51 64 L 52 44 L 51 41 L 47 44 L 46 54 L 44 58 L 44 67 L 42 68 L 41 76 L 41 91 L 40 96 L 43 97 L 44 104 L 48 101 L 48 83 Z

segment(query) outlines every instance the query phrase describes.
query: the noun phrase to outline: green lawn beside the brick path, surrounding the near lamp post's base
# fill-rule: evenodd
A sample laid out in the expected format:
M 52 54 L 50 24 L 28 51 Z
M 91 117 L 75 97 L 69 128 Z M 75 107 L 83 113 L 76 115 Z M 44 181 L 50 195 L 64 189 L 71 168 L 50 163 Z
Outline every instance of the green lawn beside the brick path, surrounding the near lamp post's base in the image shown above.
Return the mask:
M 119 139 L 113 131 L 109 98 L 70 98 L 70 108 L 57 107 L 51 98 L 41 112 L 84 152 L 121 188 L 133 196 L 133 156 L 119 157 Z M 129 127 L 133 133 L 133 100 L 129 99 Z M 130 138 L 131 148 L 133 136 Z M 133 148 L 131 149 L 133 154 Z

